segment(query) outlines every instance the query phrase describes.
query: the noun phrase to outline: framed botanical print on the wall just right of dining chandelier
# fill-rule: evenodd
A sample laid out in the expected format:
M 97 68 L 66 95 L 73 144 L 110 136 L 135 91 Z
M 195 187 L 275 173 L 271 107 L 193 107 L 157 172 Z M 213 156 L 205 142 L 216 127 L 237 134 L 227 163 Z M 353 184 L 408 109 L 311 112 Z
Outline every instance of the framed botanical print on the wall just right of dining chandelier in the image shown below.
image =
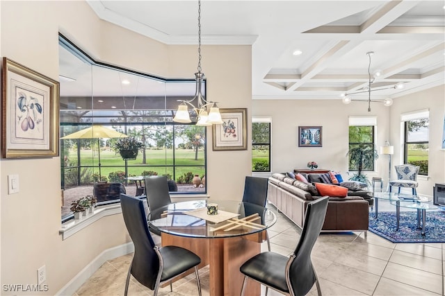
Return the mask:
M 247 150 L 247 109 L 220 109 L 222 124 L 212 125 L 213 150 Z

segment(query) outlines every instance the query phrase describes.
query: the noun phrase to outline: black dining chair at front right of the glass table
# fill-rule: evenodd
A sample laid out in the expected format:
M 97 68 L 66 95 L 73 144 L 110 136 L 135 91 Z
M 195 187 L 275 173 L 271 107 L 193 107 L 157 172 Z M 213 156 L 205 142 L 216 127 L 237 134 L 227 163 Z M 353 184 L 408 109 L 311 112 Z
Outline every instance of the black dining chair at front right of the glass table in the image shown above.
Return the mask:
M 296 296 L 309 293 L 315 283 L 318 295 L 321 295 L 311 252 L 325 221 L 328 200 L 329 197 L 326 196 L 307 204 L 300 241 L 291 256 L 263 252 L 241 265 L 240 271 L 244 275 L 241 295 L 244 295 L 249 278 L 284 295 Z

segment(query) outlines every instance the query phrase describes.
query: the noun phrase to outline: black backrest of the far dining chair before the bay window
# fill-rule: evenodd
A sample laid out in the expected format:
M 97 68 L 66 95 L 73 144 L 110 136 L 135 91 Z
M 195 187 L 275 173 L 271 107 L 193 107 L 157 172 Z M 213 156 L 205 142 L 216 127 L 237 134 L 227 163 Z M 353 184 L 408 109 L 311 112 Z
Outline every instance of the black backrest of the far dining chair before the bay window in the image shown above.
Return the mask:
M 168 180 L 165 176 L 145 177 L 145 194 L 150 211 L 172 203 L 168 192 Z M 154 219 L 159 217 L 152 217 Z

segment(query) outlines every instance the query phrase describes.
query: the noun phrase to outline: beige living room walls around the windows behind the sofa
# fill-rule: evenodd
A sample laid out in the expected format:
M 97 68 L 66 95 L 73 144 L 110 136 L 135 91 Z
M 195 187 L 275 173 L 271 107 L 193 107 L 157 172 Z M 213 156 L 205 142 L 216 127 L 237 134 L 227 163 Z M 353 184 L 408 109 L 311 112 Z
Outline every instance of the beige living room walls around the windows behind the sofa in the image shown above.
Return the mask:
M 394 105 L 385 107 L 373 103 L 367 112 L 366 103 L 353 102 L 343 105 L 341 100 L 254 100 L 252 116 L 272 119 L 272 172 L 287 172 L 293 168 L 306 168 L 309 161 L 318 162 L 320 168 L 340 171 L 343 177 L 348 171 L 348 117 L 377 116 L 375 144 L 380 151 L 386 140 L 391 144 L 401 139 L 400 116 L 404 112 L 430 110 L 430 162 L 428 180 L 419 177 L 419 193 L 432 195 L 435 183 L 445 182 L 445 150 L 440 149 L 445 115 L 444 85 L 394 99 Z M 323 147 L 298 147 L 299 125 L 323 126 Z M 394 147 L 394 165 L 401 164 L 401 147 Z M 375 172 L 369 177 L 388 177 L 387 155 L 380 155 Z M 347 175 L 346 175 L 347 176 Z

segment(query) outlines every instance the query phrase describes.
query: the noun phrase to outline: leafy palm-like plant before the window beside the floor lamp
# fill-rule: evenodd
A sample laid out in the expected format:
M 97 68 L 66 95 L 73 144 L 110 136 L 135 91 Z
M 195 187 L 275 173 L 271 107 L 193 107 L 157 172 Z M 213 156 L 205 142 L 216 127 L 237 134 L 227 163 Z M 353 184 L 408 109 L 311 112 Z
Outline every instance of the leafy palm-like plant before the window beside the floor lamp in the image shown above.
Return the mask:
M 374 159 L 378 159 L 377 150 L 373 146 L 366 143 L 359 143 L 357 145 L 351 146 L 346 157 L 349 156 L 350 167 L 357 168 L 357 173 L 349 178 L 351 181 L 359 181 L 371 184 L 368 177 L 362 174 L 364 167 L 372 167 Z

